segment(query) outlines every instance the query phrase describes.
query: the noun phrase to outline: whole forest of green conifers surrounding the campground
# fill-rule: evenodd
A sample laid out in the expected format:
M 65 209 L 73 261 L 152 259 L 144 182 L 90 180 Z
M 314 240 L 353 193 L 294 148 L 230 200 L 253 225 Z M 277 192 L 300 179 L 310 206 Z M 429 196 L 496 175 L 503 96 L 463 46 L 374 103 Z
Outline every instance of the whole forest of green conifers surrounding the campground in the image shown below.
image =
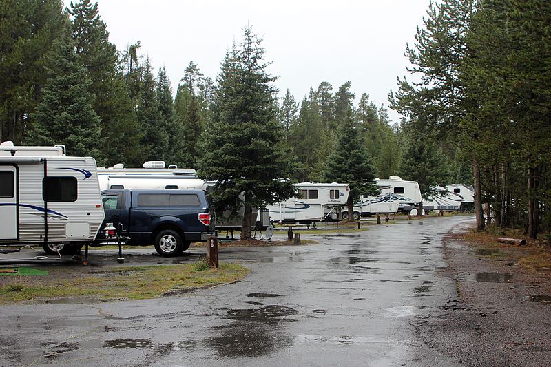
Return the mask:
M 282 179 L 354 190 L 397 175 L 417 180 L 424 197 L 470 183 L 478 229 L 518 227 L 536 238 L 551 225 L 550 24 L 545 0 L 432 4 L 404 50 L 415 82 L 399 78 L 389 94 L 404 116 L 392 123 L 368 90 L 351 93 L 353 81 L 312 81 L 302 100 L 289 90 L 278 99 L 250 28 L 228 45 L 219 74 L 191 61 L 174 91 L 139 42 L 116 50 L 90 0 L 67 9 L 1 0 L 0 141 L 64 144 L 104 166 L 165 160 L 227 180 L 227 197 L 250 191 L 253 205 L 289 196 Z M 365 165 L 353 172 L 360 164 L 346 162 Z

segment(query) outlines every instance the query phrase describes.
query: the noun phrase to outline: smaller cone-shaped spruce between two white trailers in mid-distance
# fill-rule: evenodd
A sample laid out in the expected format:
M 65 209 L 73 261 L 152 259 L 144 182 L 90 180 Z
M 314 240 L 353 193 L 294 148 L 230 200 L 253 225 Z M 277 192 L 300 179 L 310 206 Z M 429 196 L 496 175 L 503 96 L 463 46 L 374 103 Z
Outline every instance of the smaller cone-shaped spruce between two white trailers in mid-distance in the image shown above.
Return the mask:
M 349 117 L 340 125 L 337 145 L 327 159 L 324 178 L 329 182 L 348 183 L 350 193 L 346 206 L 353 213 L 354 202 L 361 194 L 377 195 L 375 185 L 375 167 L 364 144 L 364 135 L 360 127 Z M 353 216 L 349 216 L 349 222 Z

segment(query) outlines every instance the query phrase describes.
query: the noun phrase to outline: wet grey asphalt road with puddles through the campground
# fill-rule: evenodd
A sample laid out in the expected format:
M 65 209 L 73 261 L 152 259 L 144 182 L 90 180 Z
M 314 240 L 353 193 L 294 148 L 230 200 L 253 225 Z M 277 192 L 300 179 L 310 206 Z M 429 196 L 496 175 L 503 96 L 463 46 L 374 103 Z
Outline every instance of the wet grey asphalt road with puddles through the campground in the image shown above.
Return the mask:
M 461 366 L 415 323 L 455 297 L 442 238 L 470 217 L 302 235 L 319 244 L 221 249 L 242 282 L 156 300 L 1 307 L 6 366 Z M 127 251 L 127 264 L 151 251 Z M 178 261 L 193 262 L 202 249 Z M 98 257 L 99 258 L 99 257 Z M 112 259 L 112 258 L 111 258 Z M 158 258 L 156 258 L 158 259 Z M 112 261 L 112 260 L 111 260 Z M 174 261 L 174 260 L 171 260 Z

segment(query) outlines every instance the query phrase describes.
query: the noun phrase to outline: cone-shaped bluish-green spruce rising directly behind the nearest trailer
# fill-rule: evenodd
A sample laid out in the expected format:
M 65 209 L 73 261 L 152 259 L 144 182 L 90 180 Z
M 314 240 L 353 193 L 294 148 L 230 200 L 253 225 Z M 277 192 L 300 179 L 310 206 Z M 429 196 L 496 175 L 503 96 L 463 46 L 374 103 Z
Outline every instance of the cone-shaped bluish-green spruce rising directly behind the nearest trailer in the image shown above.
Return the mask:
M 66 43 L 57 45 L 54 69 L 44 87 L 44 100 L 32 116 L 37 121 L 32 143 L 64 144 L 67 154 L 72 156 L 100 156 L 101 120 L 92 108 L 90 83 L 67 36 Z

